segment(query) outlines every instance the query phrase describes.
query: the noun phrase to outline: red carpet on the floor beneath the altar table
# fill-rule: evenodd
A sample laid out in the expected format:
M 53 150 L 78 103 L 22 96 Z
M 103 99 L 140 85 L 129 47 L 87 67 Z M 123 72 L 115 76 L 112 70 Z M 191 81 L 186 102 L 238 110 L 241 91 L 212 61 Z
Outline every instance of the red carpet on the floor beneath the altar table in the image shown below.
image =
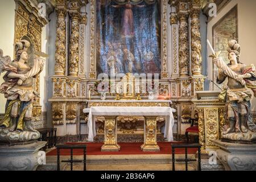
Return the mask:
M 177 143 L 177 142 L 175 142 Z M 160 147 L 159 152 L 143 152 L 141 145 L 143 143 L 118 143 L 121 146 L 121 150 L 118 152 L 101 152 L 101 146 L 103 143 L 67 143 L 67 144 L 86 144 L 86 155 L 145 155 L 145 154 L 172 154 L 170 142 L 158 142 Z M 188 154 L 196 154 L 197 148 L 188 148 Z M 185 154 L 184 148 L 176 148 L 175 154 Z M 57 155 L 57 150 L 52 150 L 47 153 L 47 156 Z M 60 155 L 70 155 L 70 150 L 60 150 Z M 83 155 L 81 149 L 73 150 L 73 155 Z

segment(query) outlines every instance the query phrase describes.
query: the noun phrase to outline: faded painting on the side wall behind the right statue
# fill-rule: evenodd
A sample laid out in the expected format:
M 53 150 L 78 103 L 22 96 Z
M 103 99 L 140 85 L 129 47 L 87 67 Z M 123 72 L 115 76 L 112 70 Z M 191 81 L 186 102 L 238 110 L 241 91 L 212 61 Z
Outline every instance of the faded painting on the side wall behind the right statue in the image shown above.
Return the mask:
M 213 26 L 213 48 L 215 51 L 221 51 L 221 57 L 226 64 L 229 63 L 228 47 L 229 40 L 238 41 L 238 19 L 237 19 L 237 6 L 234 6 L 226 15 L 223 16 L 216 24 Z M 213 80 L 216 80 L 218 76 L 218 69 L 216 65 L 213 66 Z M 225 83 L 224 83 L 225 84 Z M 221 88 L 221 84 L 219 87 Z M 214 85 L 214 90 L 219 88 Z

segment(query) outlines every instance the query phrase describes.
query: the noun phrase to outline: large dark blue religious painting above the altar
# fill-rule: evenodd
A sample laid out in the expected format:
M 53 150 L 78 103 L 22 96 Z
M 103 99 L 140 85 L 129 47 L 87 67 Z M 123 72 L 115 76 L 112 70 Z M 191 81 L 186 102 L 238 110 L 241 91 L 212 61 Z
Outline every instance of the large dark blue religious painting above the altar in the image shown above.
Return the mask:
M 97 0 L 97 74 L 160 73 L 160 1 Z

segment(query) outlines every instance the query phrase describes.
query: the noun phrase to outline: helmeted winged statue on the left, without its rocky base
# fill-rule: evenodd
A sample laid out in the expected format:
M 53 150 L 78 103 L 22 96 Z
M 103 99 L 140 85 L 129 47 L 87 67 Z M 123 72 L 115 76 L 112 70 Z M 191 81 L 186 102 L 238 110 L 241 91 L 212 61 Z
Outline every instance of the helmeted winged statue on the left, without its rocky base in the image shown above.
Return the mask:
M 28 47 L 30 43 L 27 40 L 16 43 L 13 61 L 9 56 L 3 56 L 3 51 L 0 49 L 0 73 L 6 72 L 3 76 L 5 82 L 0 86 L 0 92 L 7 98 L 5 116 L 0 121 L 1 131 L 37 132 L 31 126 L 32 102 L 39 98 L 39 94 L 33 89 L 33 78 L 42 71 L 44 60 L 36 58 L 31 68 L 27 63 Z

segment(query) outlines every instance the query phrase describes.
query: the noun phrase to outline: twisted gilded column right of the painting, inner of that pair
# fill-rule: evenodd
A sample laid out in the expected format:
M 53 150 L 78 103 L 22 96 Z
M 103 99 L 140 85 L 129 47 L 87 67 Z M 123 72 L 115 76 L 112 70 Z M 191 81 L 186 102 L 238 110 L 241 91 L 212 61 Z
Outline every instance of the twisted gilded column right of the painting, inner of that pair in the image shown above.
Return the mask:
M 176 1 L 179 18 L 179 62 L 180 77 L 189 76 L 188 2 Z

